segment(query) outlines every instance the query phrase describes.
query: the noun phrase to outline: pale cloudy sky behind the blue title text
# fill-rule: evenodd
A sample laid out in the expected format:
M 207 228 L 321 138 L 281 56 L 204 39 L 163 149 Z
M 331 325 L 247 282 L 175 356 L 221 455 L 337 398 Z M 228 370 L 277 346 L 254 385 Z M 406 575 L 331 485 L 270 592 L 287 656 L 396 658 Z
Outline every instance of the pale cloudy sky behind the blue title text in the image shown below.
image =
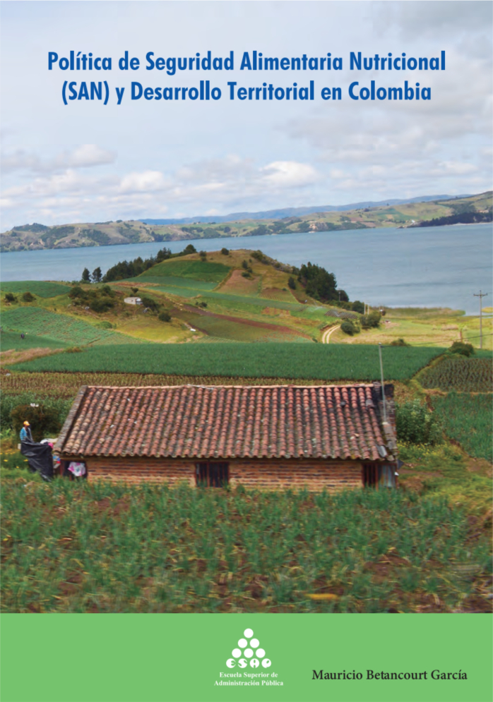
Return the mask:
M 489 1 L 4 1 L 1 229 L 40 222 L 194 217 L 344 205 L 492 188 Z M 111 71 L 48 68 L 49 52 L 111 57 Z M 121 71 L 124 52 L 140 60 Z M 234 52 L 233 71 L 147 71 L 154 59 Z M 239 70 L 244 52 L 340 57 L 342 70 Z M 350 52 L 441 56 L 445 71 L 351 71 Z M 131 83 L 220 87 L 219 100 L 131 100 Z M 107 80 L 107 104 L 64 81 Z M 229 99 L 298 87 L 313 101 Z M 430 89 L 431 99 L 351 99 L 354 89 Z M 124 87 L 117 104 L 116 87 Z M 321 99 L 340 87 L 340 100 Z M 353 92 L 354 92 L 353 90 Z M 78 92 L 76 93 L 78 95 Z M 355 93 L 358 95 L 358 92 Z M 69 93 L 67 93 L 68 97 Z

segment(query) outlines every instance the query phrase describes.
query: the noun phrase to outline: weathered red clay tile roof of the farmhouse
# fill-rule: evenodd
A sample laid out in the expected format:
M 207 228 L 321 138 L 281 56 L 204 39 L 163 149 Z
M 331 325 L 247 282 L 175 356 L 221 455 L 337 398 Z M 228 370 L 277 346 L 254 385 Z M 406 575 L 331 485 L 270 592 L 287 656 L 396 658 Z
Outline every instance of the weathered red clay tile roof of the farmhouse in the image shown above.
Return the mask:
M 372 385 L 88 387 L 64 455 L 381 460 Z M 388 433 L 388 430 L 387 430 Z

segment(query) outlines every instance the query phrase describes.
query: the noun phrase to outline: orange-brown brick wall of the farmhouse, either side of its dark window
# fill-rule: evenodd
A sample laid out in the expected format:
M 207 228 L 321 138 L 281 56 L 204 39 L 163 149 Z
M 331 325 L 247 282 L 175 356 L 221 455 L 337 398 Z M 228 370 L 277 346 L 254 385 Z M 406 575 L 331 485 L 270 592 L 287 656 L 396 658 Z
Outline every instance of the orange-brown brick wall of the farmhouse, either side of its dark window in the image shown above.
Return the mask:
M 68 459 L 69 456 L 64 456 Z M 81 460 L 80 456 L 73 460 Z M 140 457 L 84 459 L 88 480 L 123 480 L 126 483 L 155 483 L 176 485 L 186 481 L 196 484 L 196 461 L 190 459 L 147 459 Z M 228 461 L 230 485 L 242 484 L 245 488 L 303 488 L 309 490 L 342 490 L 362 487 L 360 461 L 321 461 L 299 459 L 275 461 L 236 459 Z

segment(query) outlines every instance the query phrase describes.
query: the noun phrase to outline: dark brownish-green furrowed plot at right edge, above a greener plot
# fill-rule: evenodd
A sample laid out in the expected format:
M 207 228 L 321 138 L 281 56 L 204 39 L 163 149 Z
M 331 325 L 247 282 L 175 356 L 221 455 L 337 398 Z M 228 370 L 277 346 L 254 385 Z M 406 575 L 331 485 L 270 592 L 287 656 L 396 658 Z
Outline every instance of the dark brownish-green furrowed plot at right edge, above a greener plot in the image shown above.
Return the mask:
M 492 392 L 493 365 L 489 358 L 465 358 L 449 356 L 442 358 L 430 368 L 425 368 L 417 380 L 422 387 L 438 388 L 449 392 Z

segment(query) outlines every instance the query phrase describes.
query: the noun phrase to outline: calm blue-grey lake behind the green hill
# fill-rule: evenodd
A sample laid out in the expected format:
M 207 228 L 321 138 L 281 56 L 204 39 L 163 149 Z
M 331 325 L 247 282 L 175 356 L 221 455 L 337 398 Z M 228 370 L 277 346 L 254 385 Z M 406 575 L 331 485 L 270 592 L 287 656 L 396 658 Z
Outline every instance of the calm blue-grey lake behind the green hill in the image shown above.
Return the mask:
M 451 307 L 479 312 L 480 289 L 492 303 L 492 224 L 354 229 L 282 236 L 242 236 L 191 241 L 197 249 L 261 249 L 284 263 L 311 261 L 333 272 L 351 300 L 390 307 Z M 1 254 L 1 279 L 69 280 L 87 267 L 104 273 L 121 260 L 148 258 L 166 246 L 173 253 L 186 243 L 15 251 Z

